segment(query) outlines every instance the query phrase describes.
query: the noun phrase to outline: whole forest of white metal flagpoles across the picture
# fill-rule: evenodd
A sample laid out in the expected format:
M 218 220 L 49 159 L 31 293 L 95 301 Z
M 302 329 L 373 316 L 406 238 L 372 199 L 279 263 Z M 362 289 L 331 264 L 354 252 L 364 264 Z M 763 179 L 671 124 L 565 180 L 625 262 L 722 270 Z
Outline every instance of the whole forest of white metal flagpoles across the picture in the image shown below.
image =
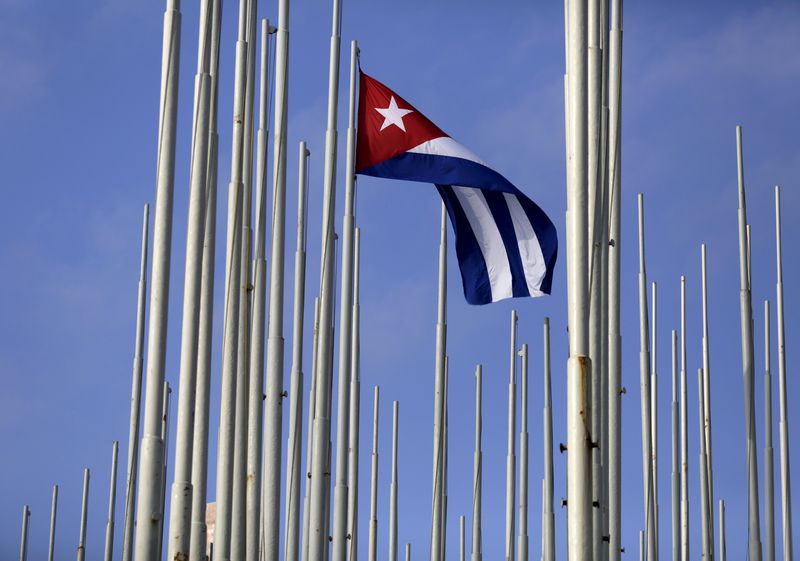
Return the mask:
M 355 225 L 355 113 L 358 47 L 350 49 L 350 97 L 346 137 L 342 229 L 335 230 L 337 122 L 341 50 L 341 2 L 333 2 L 324 154 L 320 286 L 314 300 L 310 387 L 305 387 L 303 341 L 306 292 L 307 166 L 310 152 L 300 143 L 293 325 L 289 389 L 284 391 L 284 282 L 286 251 L 286 166 L 289 0 L 279 0 L 277 26 L 259 20 L 256 0 L 239 1 L 235 46 L 231 177 L 228 186 L 223 345 L 213 533 L 207 526 L 209 403 L 219 159 L 218 70 L 221 0 L 201 0 L 189 180 L 186 263 L 181 317 L 180 373 L 174 476 L 167 486 L 169 399 L 165 380 L 170 248 L 176 160 L 181 13 L 167 0 L 164 15 L 157 188 L 149 287 L 150 318 L 145 333 L 149 207 L 145 205 L 138 285 L 130 432 L 125 485 L 122 561 L 356 561 L 361 543 L 358 513 L 360 363 L 360 230 Z M 622 1 L 567 0 L 564 77 L 567 151 L 567 550 L 571 561 L 619 561 L 621 536 L 620 337 L 620 146 Z M 260 37 L 261 49 L 256 52 Z M 274 49 L 274 55 L 271 50 Z M 274 69 L 270 67 L 274 64 Z M 274 75 L 274 82 L 270 77 Z M 258 85 L 258 88 L 256 87 Z M 256 100 L 256 91 L 258 99 Z M 268 101 L 274 92 L 271 239 L 267 240 Z M 257 101 L 257 103 L 256 103 Z M 256 111 L 257 110 L 257 111 Z M 764 534 L 759 520 L 755 434 L 753 317 L 750 295 L 749 225 L 745 210 L 741 129 L 737 129 L 739 171 L 739 254 L 742 365 L 748 491 L 748 559 L 775 558 L 772 381 L 769 304 L 765 314 Z M 644 202 L 639 195 L 640 398 L 644 511 L 640 558 L 659 556 L 658 403 L 656 391 L 656 284 L 648 309 L 644 250 Z M 777 322 L 779 427 L 783 558 L 792 559 L 789 434 L 781 268 L 780 189 L 775 191 L 777 241 Z M 253 224 L 253 218 L 255 223 Z M 435 407 L 431 561 L 447 555 L 448 360 L 447 231 L 441 211 L 436 327 Z M 267 259 L 267 249 L 270 250 Z M 341 263 L 337 271 L 337 254 Z M 711 442 L 710 357 L 706 288 L 706 248 L 701 250 L 703 356 L 698 370 L 700 437 L 699 483 L 702 555 L 713 559 L 714 480 Z M 269 263 L 269 264 L 268 264 Z M 337 272 L 341 277 L 338 299 Z M 671 523 L 672 559 L 689 559 L 688 396 L 686 282 L 680 279 L 681 328 L 672 331 Z M 268 292 L 269 291 L 269 292 Z M 269 302 L 269 306 L 267 306 Z M 338 329 L 336 311 L 338 309 Z M 652 316 L 652 317 L 651 317 Z M 652 326 L 652 329 L 651 329 Z M 542 479 L 542 561 L 556 558 L 553 508 L 553 421 L 549 320 L 543 326 L 544 406 Z M 334 352 L 338 337 L 338 355 Z M 680 344 L 679 342 L 680 341 Z M 144 368 L 146 346 L 146 372 Z M 336 380 L 333 435 L 334 357 Z M 680 361 L 678 357 L 680 356 Z M 517 432 L 517 379 L 521 382 L 521 426 Z M 144 415 L 141 415 L 145 381 Z M 482 547 L 482 367 L 475 373 L 475 452 L 471 561 Z M 303 395 L 308 391 L 308 410 Z M 508 383 L 508 454 L 505 497 L 505 560 L 527 561 L 528 538 L 528 345 L 517 344 L 512 312 Z M 282 426 L 288 406 L 287 430 Z M 367 528 L 369 561 L 377 554 L 379 389 L 374 388 Z M 143 419 L 140 427 L 140 417 Z M 389 561 L 398 556 L 399 404 L 392 408 L 392 462 Z M 305 426 L 303 421 L 305 419 Z M 305 436 L 305 438 L 304 438 Z M 286 457 L 282 439 L 287 438 Z M 301 466 L 303 443 L 306 464 Z M 517 450 L 517 442 L 519 450 Z M 519 453 L 519 458 L 517 454 Z M 106 528 L 106 561 L 113 555 L 118 443 L 113 445 L 111 492 Z M 335 464 L 332 459 L 335 459 Z M 519 477 L 517 469 L 519 468 Z M 282 482 L 285 476 L 285 482 Z M 305 481 L 304 495 L 301 483 Z M 518 486 L 517 486 L 518 485 Z M 167 492 L 169 490 L 169 492 Z M 84 474 L 78 561 L 84 559 L 89 471 Z M 169 495 L 169 520 L 164 520 Z M 53 559 L 58 487 L 53 488 L 50 547 Z M 285 509 L 281 512 L 281 498 Z M 30 511 L 23 510 L 20 559 L 26 558 Z M 725 559 L 725 506 L 719 502 L 718 558 Z M 284 535 L 281 536 L 281 528 Z M 135 531 L 134 531 L 135 529 Z M 459 520 L 459 554 L 467 557 L 466 522 Z M 166 540 L 164 535 L 166 532 Z M 166 543 L 164 543 L 166 541 Z M 405 558 L 410 561 L 411 544 Z

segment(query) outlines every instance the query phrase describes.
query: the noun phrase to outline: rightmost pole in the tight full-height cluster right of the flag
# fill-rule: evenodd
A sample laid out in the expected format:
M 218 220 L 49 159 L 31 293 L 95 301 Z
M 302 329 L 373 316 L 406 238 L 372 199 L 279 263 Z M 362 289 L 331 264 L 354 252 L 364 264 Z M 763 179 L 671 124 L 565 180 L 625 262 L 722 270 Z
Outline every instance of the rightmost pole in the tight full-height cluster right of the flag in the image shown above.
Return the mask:
M 622 0 L 611 0 L 608 70 L 608 521 L 609 559 L 620 561 L 622 338 L 620 336 L 620 212 L 621 212 L 621 101 Z M 552 449 L 552 447 L 551 447 Z

